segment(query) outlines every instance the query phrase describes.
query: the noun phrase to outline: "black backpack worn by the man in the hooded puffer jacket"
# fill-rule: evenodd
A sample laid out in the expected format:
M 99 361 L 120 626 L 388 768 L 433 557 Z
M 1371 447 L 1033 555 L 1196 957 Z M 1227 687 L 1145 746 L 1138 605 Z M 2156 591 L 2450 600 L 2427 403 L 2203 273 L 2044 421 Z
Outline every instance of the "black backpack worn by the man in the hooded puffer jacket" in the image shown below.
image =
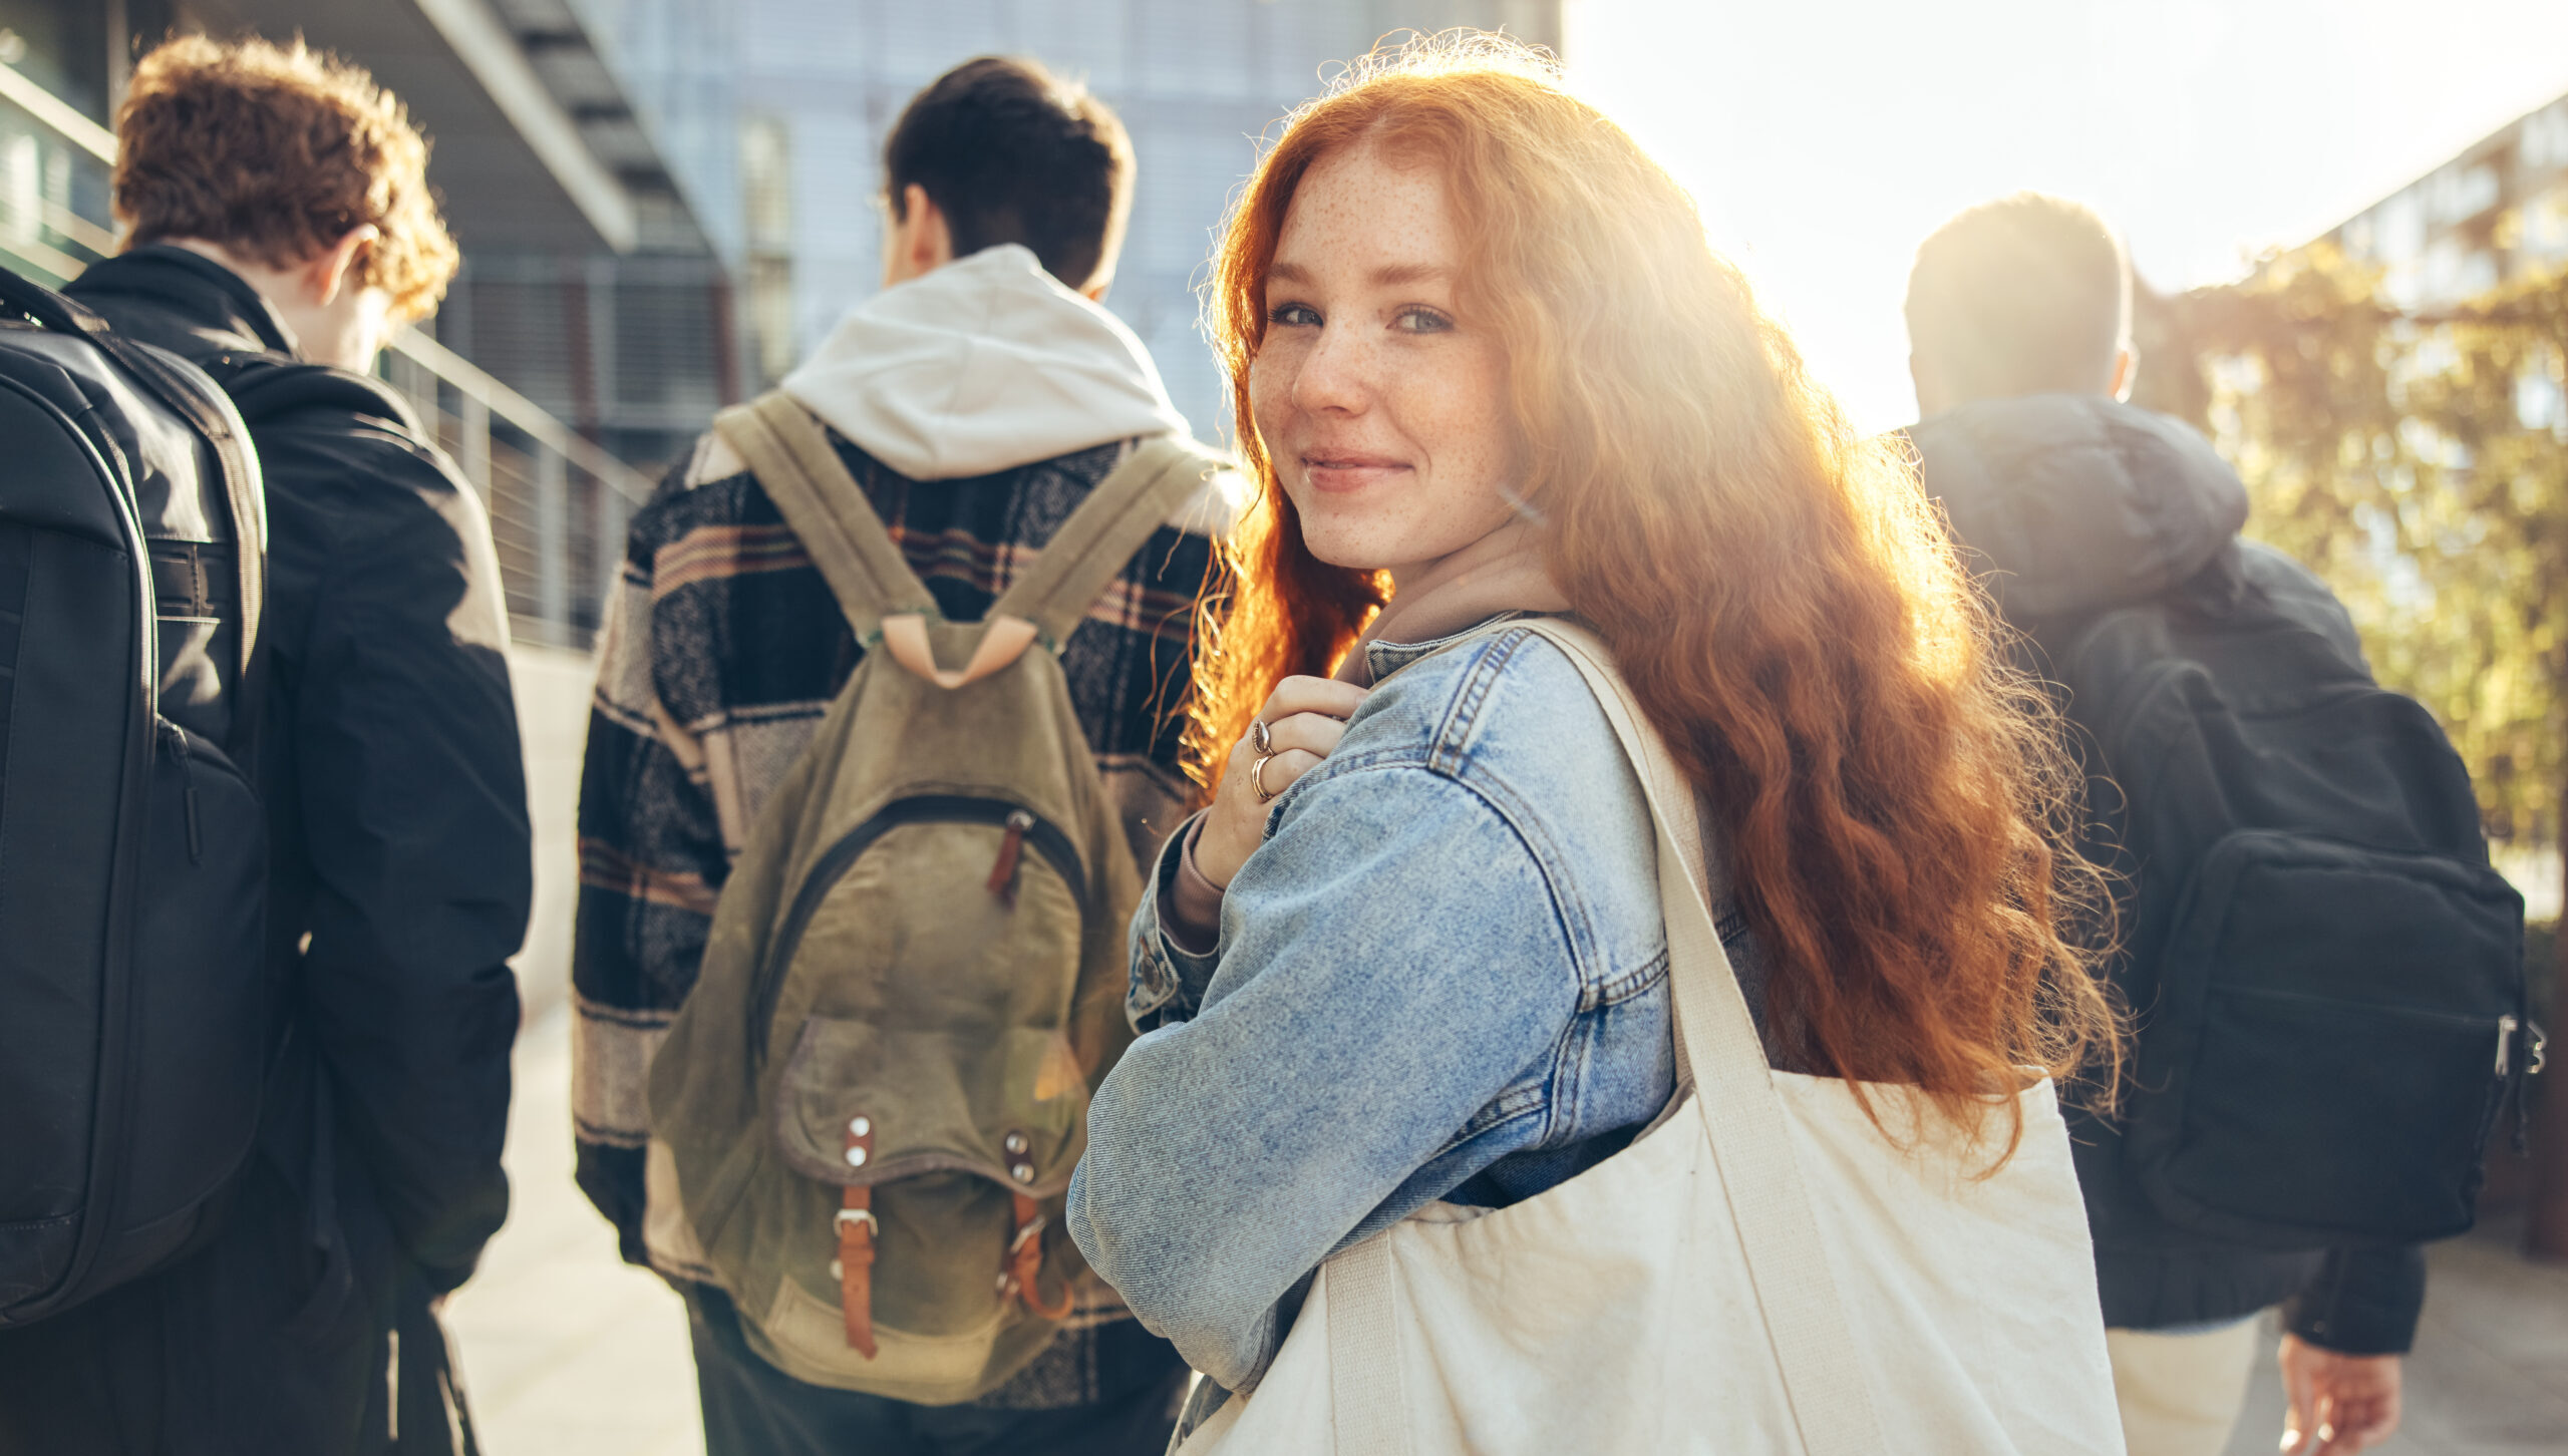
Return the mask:
M 2129 1179 L 2219 1245 L 2468 1230 L 2540 1037 L 2524 904 L 2442 729 L 2257 544 L 2034 639 L 2090 755 L 2090 853 L 2121 876 Z

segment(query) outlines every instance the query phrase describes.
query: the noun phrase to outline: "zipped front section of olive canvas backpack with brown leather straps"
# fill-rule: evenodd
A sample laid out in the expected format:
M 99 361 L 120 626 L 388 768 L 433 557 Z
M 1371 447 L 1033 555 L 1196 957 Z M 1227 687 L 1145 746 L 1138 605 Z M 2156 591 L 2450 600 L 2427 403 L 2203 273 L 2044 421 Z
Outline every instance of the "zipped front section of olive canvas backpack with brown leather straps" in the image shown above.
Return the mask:
M 716 1256 L 799 1379 L 960 1400 L 1061 1328 L 1086 894 L 1007 799 L 894 799 L 801 860 L 750 991 L 758 1174 Z

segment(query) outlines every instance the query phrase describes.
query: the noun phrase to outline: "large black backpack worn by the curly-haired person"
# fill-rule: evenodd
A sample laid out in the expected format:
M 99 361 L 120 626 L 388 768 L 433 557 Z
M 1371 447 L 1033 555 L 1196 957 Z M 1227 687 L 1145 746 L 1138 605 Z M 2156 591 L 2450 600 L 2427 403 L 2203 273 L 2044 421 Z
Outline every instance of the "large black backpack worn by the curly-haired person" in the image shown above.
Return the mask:
M 0 270 L 0 1328 L 211 1233 L 277 1045 L 265 506 L 193 365 Z

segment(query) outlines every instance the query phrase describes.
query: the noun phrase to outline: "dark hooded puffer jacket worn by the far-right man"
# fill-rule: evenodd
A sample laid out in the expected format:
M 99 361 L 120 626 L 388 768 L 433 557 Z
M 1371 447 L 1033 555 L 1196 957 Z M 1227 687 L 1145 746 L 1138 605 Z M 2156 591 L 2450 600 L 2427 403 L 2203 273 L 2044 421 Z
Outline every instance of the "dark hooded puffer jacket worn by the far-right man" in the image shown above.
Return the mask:
M 2049 632 L 2095 611 L 2173 596 L 2216 611 L 2250 588 L 2363 657 L 2319 578 L 2239 539 L 2247 488 L 2183 421 L 2101 395 L 2031 395 L 1944 411 L 1908 439 L 2034 670 Z M 2316 1346 L 2409 1348 L 2424 1299 L 2419 1251 L 2208 1248 L 2131 1186 L 2111 1125 L 2072 1112 L 2070 1127 L 2106 1325 L 2165 1330 L 2286 1304 L 2293 1333 Z

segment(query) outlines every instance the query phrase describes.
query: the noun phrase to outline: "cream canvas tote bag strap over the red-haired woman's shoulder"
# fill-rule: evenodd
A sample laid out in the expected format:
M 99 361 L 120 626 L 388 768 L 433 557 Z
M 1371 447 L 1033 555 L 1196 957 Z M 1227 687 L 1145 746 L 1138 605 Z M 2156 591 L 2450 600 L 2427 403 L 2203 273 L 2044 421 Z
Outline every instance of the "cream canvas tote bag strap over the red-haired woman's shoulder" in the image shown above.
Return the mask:
M 1695 1112 L 1713 1145 L 1713 1166 L 1739 1227 L 1803 1451 L 1805 1456 L 1890 1451 L 1854 1356 L 1854 1328 L 1828 1271 L 1810 1194 L 1800 1181 L 1782 1094 L 1774 1089 L 1764 1043 L 1757 1037 L 1757 1022 L 1749 1017 L 1703 894 L 1695 865 L 1703 845 L 1695 793 L 1595 632 L 1561 619 L 1507 627 L 1536 632 L 1569 657 L 1605 709 L 1649 796 L 1649 817 L 1659 835 L 1659 901 L 1667 914 L 1677 1050 L 1692 1068 Z M 1407 1423 L 1400 1402 L 1389 1251 L 1379 1238 L 1369 1243 L 1376 1248 L 1356 1245 L 1328 1263 L 1338 1451 L 1405 1456 Z M 1358 1258 L 1361 1253 L 1369 1258 Z

